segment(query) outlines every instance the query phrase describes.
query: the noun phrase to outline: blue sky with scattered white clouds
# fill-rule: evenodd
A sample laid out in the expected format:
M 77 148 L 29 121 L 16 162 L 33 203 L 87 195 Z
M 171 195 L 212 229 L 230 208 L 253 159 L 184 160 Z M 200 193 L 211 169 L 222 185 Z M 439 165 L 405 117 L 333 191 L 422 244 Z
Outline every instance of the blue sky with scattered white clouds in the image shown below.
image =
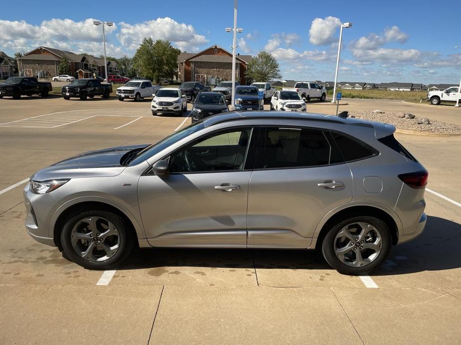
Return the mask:
M 13 54 L 45 45 L 99 55 L 101 28 L 91 18 L 116 23 L 107 34 L 108 54 L 115 56 L 132 55 L 144 36 L 168 39 L 188 52 L 213 44 L 230 50 L 232 44 L 224 28 L 233 24 L 233 0 L 42 3 L 27 1 L 27 10 L 18 10 L 14 1 L 2 3 L 0 50 Z M 339 24 L 350 21 L 353 27 L 343 34 L 340 81 L 458 83 L 459 9 L 428 0 L 240 0 L 237 23 L 244 32 L 238 35 L 238 52 L 270 51 L 284 79 L 330 81 Z

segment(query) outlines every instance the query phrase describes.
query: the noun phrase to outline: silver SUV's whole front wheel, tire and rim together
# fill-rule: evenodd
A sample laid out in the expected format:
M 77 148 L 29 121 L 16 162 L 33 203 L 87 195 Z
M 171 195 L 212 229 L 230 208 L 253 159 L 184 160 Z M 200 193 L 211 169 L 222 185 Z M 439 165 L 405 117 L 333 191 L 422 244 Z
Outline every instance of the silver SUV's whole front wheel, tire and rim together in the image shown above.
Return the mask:
M 61 243 L 65 256 L 88 269 L 117 267 L 133 249 L 128 225 L 118 214 L 104 210 L 69 217 Z

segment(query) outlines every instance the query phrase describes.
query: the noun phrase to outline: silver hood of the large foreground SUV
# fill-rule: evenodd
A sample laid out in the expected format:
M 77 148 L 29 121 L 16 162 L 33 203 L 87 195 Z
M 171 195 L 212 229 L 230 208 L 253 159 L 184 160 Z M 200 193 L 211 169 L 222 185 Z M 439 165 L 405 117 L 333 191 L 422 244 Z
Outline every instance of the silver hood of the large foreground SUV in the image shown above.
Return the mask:
M 55 178 L 115 176 L 126 168 L 120 164 L 123 155 L 146 146 L 148 145 L 131 145 L 85 152 L 42 169 L 30 178 L 44 181 Z

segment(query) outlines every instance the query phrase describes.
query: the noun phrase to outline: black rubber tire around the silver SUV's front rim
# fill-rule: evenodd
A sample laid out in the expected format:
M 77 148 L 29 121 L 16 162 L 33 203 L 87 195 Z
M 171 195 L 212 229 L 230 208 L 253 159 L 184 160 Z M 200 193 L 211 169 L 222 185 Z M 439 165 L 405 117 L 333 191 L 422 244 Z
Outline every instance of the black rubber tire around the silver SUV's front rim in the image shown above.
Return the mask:
M 76 252 L 71 243 L 72 230 L 74 226 L 80 220 L 94 216 L 104 218 L 111 222 L 116 227 L 119 234 L 119 248 L 117 249 L 117 252 L 115 252 L 115 254 L 112 257 L 105 259 L 103 261 L 93 261 L 83 258 Z M 124 222 L 120 215 L 104 210 L 94 210 L 79 212 L 78 214 L 70 216 L 62 229 L 61 243 L 64 255 L 66 255 L 73 262 L 87 269 L 106 270 L 117 267 L 125 259 L 127 259 L 127 257 L 133 250 L 134 238 L 132 236 L 129 226 Z

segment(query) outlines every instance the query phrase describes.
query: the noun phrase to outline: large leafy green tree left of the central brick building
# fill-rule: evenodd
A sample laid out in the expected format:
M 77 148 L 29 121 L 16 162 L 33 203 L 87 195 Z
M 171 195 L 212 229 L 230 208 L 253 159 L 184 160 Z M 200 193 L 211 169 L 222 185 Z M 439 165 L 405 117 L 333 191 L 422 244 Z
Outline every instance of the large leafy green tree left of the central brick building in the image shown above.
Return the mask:
M 162 78 L 171 78 L 177 68 L 180 51 L 169 41 L 144 38 L 133 57 L 134 68 L 143 77 L 149 77 L 159 84 Z

